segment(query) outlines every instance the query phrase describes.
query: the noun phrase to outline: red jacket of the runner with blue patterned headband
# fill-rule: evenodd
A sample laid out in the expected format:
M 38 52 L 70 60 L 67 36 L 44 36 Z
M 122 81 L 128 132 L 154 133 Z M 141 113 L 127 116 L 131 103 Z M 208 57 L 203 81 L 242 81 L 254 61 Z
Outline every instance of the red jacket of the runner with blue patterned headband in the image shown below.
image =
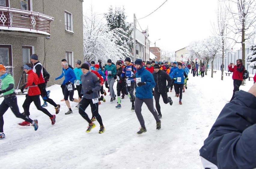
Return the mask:
M 26 87 L 29 88 L 28 95 L 29 96 L 36 96 L 41 94 L 38 84 L 41 84 L 38 78 L 38 75 L 33 72 L 33 70 L 28 71 L 28 82 L 26 83 Z

